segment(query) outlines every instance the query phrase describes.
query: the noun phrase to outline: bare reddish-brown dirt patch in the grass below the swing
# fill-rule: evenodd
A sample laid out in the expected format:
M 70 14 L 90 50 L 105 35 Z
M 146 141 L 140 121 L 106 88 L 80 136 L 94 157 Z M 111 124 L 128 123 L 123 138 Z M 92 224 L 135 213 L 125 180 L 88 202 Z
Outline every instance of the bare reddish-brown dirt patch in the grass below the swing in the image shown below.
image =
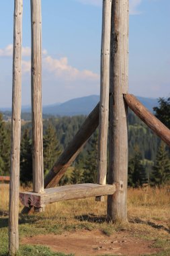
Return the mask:
M 85 255 L 130 255 L 137 256 L 156 253 L 159 249 L 152 248 L 153 241 L 129 237 L 127 233 L 117 232 L 105 236 L 99 231 L 81 231 L 60 235 L 46 234 L 22 239 L 22 244 L 46 245 L 52 251 Z

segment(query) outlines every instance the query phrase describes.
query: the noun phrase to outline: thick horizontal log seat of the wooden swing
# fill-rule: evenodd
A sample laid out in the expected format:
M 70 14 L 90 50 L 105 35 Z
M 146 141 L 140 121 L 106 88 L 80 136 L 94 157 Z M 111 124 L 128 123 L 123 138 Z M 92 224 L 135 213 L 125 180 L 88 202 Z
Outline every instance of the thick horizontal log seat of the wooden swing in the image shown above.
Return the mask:
M 81 199 L 99 195 L 112 195 L 116 191 L 115 185 L 76 184 L 51 189 L 44 189 L 44 193 L 22 192 L 19 193 L 20 201 L 27 207 L 44 207 L 56 201 Z

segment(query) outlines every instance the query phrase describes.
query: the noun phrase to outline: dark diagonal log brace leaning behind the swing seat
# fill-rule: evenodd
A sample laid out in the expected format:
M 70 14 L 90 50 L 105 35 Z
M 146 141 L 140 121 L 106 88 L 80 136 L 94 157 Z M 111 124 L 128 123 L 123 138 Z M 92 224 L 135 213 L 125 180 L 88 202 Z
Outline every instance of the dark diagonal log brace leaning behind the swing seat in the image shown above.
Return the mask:
M 81 128 L 69 143 L 65 151 L 60 155 L 60 158 L 55 162 L 52 169 L 48 172 L 44 180 L 44 187 L 55 187 L 60 179 L 63 177 L 67 168 L 72 164 L 79 152 L 85 146 L 89 137 L 93 134 L 99 125 L 99 103 L 91 111 Z M 34 212 L 33 207 L 24 207 L 22 214 L 29 214 Z

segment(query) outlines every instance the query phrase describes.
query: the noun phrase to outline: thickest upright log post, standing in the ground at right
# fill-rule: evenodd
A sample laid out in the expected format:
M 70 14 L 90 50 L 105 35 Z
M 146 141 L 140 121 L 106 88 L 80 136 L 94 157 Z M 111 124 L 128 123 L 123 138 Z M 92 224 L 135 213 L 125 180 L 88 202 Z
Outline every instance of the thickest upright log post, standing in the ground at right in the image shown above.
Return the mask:
M 123 94 L 128 92 L 128 0 L 112 1 L 111 26 L 108 183 L 116 183 L 118 191 L 108 196 L 108 220 L 126 221 L 128 125 Z

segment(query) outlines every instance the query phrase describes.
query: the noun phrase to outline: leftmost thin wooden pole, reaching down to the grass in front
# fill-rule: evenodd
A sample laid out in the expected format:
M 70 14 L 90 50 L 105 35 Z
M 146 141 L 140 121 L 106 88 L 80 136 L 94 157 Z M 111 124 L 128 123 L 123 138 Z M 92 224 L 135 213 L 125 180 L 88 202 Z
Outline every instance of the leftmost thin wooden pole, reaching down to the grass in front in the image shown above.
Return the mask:
M 14 2 L 13 26 L 13 94 L 11 117 L 11 166 L 9 185 L 9 255 L 19 249 L 19 160 L 21 139 L 22 91 L 22 0 Z

